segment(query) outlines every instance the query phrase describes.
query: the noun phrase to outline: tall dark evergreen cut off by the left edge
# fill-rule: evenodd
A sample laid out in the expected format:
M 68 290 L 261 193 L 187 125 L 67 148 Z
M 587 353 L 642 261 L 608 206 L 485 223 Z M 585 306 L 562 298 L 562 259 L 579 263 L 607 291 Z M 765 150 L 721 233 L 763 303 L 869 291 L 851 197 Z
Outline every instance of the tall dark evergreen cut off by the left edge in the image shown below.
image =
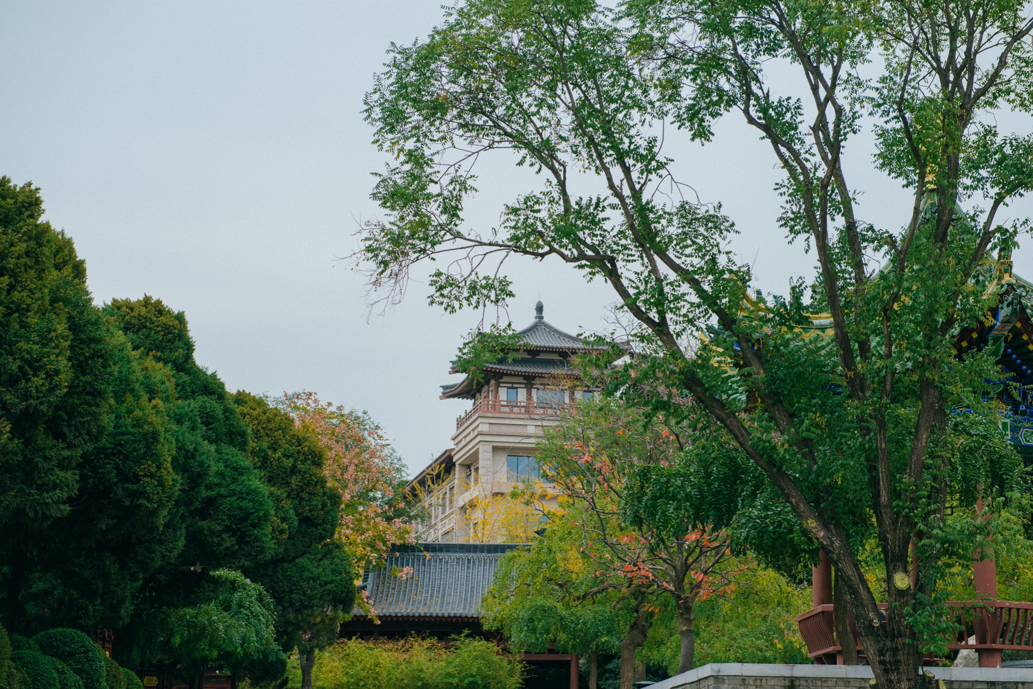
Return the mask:
M 42 529 L 71 509 L 83 452 L 109 419 L 114 352 L 71 240 L 31 184 L 0 178 L 0 557 L 6 627 Z

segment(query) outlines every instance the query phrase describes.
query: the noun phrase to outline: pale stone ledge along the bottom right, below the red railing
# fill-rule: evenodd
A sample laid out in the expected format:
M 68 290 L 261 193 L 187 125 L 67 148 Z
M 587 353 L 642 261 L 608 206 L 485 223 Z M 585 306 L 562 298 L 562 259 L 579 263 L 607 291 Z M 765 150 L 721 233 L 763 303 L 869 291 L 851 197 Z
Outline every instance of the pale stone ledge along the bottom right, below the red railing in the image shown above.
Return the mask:
M 950 689 L 1033 689 L 1031 667 L 930 667 Z M 868 689 L 868 665 L 712 663 L 657 682 L 650 689 Z

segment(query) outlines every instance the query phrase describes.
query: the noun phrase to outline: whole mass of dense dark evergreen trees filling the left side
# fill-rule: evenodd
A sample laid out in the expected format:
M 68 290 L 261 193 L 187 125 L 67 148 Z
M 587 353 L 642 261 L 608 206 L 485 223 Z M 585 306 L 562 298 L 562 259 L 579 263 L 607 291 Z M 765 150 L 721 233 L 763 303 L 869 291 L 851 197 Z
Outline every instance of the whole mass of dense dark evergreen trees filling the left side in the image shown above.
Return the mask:
M 182 312 L 94 306 L 42 213 L 38 189 L 0 178 L 0 597 L 23 634 L 0 687 L 64 686 L 75 668 L 36 639 L 97 651 L 83 633 L 97 626 L 116 629 L 116 657 L 178 665 L 192 686 L 213 663 L 282 675 L 283 651 L 331 643 L 355 599 L 325 448 L 228 395 Z M 104 663 L 105 686 L 138 684 Z

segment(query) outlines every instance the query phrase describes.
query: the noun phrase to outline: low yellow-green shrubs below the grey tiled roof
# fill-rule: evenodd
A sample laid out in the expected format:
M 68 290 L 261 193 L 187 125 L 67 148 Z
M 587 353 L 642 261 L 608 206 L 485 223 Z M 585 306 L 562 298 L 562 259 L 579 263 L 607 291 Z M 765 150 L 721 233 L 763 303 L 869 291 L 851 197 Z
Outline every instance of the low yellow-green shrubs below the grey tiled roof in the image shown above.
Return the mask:
M 288 687 L 299 687 L 298 660 Z M 342 640 L 316 654 L 314 689 L 518 689 L 524 663 L 479 638 Z

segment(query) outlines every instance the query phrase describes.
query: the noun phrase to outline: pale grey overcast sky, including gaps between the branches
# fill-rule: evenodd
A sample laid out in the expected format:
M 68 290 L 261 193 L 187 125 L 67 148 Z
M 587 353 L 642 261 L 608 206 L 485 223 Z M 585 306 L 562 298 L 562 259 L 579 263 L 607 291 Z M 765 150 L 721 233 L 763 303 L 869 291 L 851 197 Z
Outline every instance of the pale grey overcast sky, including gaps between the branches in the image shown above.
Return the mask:
M 450 446 L 464 401 L 438 400 L 448 362 L 479 314 L 444 315 L 426 289 L 367 318 L 359 276 L 337 257 L 375 216 L 363 95 L 392 41 L 440 22 L 414 2 L 3 2 L 0 175 L 41 187 L 46 219 L 87 261 L 97 303 L 145 293 L 185 311 L 199 364 L 230 390 L 316 390 L 368 410 L 415 471 Z M 1013 120 L 1013 121 L 1012 121 Z M 1001 121 L 1011 131 L 1028 125 Z M 668 153 L 705 201 L 722 201 L 757 284 L 784 291 L 813 260 L 775 225 L 770 149 L 740 120 L 699 147 Z M 859 214 L 906 222 L 910 201 L 851 151 Z M 506 160 L 480 169 L 471 222 L 530 190 Z M 1031 213 L 1028 201 L 1011 215 Z M 1015 272 L 1033 275 L 1029 248 Z M 605 327 L 614 296 L 559 263 L 513 262 L 513 324 L 545 318 L 569 332 Z

